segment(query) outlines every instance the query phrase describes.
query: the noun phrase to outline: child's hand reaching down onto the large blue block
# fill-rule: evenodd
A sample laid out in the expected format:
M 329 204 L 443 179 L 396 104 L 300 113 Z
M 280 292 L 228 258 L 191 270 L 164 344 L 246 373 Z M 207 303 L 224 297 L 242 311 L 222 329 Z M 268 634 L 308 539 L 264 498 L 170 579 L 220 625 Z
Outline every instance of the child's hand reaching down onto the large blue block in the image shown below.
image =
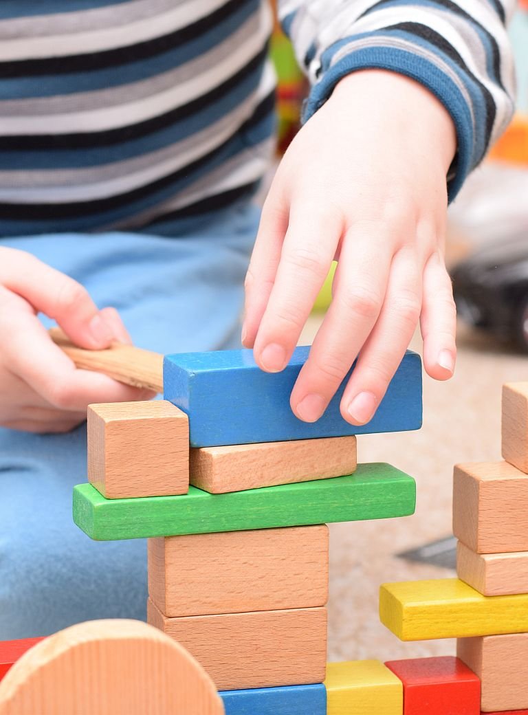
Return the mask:
M 263 370 L 290 358 L 334 257 L 333 302 L 291 395 L 317 420 L 358 357 L 343 418 L 368 422 L 418 320 L 431 377 L 454 371 L 444 265 L 454 124 L 424 87 L 388 71 L 339 82 L 300 129 L 265 201 L 246 280 L 243 342 Z

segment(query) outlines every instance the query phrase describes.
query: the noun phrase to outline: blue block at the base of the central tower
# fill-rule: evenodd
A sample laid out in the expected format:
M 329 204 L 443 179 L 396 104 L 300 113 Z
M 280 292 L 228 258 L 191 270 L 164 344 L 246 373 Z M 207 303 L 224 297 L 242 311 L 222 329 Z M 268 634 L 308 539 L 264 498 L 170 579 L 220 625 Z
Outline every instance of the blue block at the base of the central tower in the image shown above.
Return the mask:
M 326 715 L 326 688 L 322 683 L 225 690 L 219 695 L 225 715 Z

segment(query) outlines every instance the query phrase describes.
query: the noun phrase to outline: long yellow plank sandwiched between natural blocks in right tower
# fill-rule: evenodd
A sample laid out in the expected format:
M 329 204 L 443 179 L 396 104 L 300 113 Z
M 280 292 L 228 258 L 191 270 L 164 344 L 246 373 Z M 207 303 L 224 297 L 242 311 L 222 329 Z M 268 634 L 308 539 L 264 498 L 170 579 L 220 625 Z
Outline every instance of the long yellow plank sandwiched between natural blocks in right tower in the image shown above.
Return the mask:
M 402 641 L 528 632 L 528 593 L 482 596 L 458 578 L 384 583 L 381 623 Z

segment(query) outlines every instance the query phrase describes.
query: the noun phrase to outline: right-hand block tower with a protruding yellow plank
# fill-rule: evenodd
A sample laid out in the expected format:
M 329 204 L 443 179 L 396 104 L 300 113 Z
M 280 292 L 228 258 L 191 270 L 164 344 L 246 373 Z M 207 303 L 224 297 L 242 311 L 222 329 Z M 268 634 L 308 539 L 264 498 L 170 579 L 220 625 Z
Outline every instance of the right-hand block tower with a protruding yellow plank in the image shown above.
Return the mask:
M 459 578 L 381 588 L 381 620 L 403 640 L 458 639 L 481 696 L 468 684 L 442 715 L 528 715 L 528 383 L 504 385 L 502 456 L 455 467 Z

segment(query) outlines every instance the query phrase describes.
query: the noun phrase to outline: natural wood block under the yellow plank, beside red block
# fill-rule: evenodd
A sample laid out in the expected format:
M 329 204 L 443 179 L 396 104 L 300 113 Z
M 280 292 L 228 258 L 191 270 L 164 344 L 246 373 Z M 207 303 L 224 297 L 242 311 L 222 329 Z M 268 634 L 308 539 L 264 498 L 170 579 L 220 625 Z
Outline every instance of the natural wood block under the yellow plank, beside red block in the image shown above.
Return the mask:
M 528 708 L 528 633 L 460 638 L 456 653 L 481 679 L 482 711 Z

